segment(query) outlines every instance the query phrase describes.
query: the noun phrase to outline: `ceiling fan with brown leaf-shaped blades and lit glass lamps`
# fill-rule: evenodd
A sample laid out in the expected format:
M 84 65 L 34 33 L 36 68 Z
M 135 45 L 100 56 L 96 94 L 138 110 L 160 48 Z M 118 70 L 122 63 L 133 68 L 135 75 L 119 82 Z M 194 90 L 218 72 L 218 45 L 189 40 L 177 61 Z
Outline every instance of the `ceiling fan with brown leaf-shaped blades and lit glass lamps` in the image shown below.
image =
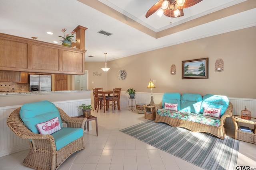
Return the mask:
M 183 8 L 188 8 L 198 4 L 202 0 L 158 0 L 146 13 L 146 18 L 154 14 L 157 10 L 157 15 L 177 18 L 184 16 Z

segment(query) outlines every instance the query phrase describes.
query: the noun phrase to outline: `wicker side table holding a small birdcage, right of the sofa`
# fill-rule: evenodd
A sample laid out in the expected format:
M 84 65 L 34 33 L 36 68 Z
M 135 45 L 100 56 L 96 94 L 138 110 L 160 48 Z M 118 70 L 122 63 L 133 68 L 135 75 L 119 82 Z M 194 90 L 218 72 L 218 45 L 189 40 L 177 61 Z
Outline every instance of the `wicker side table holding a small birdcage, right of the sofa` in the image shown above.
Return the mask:
M 242 119 L 241 116 L 239 115 L 233 115 L 231 119 L 233 120 L 235 125 L 235 139 L 256 144 L 256 131 L 255 131 L 256 118 L 252 117 L 250 120 L 247 120 L 247 119 Z M 254 125 L 254 129 L 252 129 L 253 133 L 240 131 L 238 129 L 238 122 L 253 124 Z

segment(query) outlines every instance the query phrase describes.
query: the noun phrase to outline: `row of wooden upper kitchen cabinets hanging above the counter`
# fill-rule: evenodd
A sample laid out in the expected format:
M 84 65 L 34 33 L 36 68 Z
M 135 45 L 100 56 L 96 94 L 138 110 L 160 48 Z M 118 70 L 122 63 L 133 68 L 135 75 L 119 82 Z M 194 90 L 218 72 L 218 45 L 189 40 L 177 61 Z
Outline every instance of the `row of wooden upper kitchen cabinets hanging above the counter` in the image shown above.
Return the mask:
M 83 75 L 85 52 L 0 33 L 0 70 Z

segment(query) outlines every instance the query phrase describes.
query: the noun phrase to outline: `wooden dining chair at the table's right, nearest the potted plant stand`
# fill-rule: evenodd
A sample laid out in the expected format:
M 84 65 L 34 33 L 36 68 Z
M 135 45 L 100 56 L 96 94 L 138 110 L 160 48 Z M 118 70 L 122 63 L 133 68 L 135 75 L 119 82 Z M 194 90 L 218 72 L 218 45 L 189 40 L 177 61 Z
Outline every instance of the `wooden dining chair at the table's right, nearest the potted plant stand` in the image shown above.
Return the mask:
M 116 106 L 119 111 L 120 109 L 120 95 L 121 95 L 121 88 L 113 88 L 113 94 L 112 96 L 106 98 L 106 106 L 107 109 L 112 106 L 112 113 L 114 113 L 114 109 L 116 109 Z

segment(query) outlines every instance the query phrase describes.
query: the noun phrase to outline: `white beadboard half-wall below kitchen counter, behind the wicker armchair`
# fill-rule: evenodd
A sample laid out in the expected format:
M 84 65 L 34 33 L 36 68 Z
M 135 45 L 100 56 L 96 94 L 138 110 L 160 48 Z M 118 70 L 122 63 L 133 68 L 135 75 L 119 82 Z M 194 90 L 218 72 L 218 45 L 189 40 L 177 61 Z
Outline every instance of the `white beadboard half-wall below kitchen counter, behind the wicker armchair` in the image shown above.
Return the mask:
M 90 105 L 91 99 L 60 101 L 53 103 L 72 117 L 82 115 L 82 110 L 79 109 L 78 106 L 83 103 Z M 21 106 L 0 107 L 0 157 L 29 148 L 28 140 L 17 137 L 6 124 L 8 115 L 18 107 Z

